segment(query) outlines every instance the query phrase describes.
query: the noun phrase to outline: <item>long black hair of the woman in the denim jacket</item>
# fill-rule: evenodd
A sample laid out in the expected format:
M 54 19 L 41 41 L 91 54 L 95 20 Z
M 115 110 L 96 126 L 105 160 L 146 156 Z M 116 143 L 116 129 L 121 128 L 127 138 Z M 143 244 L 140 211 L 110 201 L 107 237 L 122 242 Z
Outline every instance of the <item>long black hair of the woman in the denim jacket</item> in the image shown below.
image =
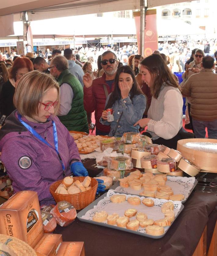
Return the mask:
M 115 101 L 121 99 L 121 90 L 118 86 L 118 82 L 119 82 L 118 79 L 119 79 L 119 76 L 121 73 L 127 73 L 127 74 L 131 75 L 131 77 L 132 77 L 133 84 L 132 84 L 132 88 L 129 92 L 130 99 L 132 100 L 132 98 L 136 94 L 141 94 L 141 92 L 137 89 L 136 78 L 135 78 L 135 74 L 134 74 L 132 68 L 127 65 L 120 67 L 120 68 L 118 68 L 116 76 L 114 78 L 114 91 L 111 93 L 108 103 L 105 106 L 105 109 L 111 108 Z

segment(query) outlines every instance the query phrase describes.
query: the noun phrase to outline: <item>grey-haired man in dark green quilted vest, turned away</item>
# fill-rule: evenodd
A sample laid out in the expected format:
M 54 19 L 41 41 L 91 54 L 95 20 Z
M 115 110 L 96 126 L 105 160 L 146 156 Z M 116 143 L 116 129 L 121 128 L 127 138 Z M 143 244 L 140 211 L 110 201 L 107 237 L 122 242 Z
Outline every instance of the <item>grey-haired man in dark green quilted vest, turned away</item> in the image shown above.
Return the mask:
M 51 60 L 50 74 L 60 85 L 60 107 L 57 116 L 69 131 L 89 133 L 87 113 L 83 103 L 83 88 L 69 70 L 67 59 L 61 55 Z

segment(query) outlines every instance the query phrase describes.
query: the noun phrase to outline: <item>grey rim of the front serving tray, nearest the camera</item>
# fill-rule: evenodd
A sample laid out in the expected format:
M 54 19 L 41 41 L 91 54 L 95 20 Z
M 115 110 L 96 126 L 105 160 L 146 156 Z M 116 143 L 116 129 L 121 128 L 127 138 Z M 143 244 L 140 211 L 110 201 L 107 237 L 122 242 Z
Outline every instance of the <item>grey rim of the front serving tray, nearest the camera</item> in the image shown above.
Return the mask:
M 120 193 L 118 193 L 116 191 L 114 191 L 114 193 L 120 194 Z M 114 229 L 122 230 L 122 231 L 133 233 L 133 234 L 136 234 L 136 235 L 142 235 L 142 236 L 146 236 L 146 237 L 149 237 L 149 238 L 159 239 L 159 238 L 162 238 L 163 236 L 165 236 L 167 231 L 170 229 L 170 227 L 172 226 L 172 224 L 174 223 L 174 221 L 176 220 L 176 218 L 179 216 L 180 212 L 182 212 L 182 210 L 184 208 L 184 205 L 182 204 L 181 208 L 180 208 L 178 214 L 175 216 L 175 220 L 172 222 L 171 226 L 168 227 L 168 229 L 165 231 L 165 233 L 163 235 L 156 235 L 156 236 L 155 235 L 148 235 L 146 233 L 141 233 L 141 232 L 137 232 L 137 231 L 133 231 L 133 230 L 130 230 L 130 229 L 127 229 L 127 228 L 124 228 L 124 227 L 118 227 L 118 226 L 109 225 L 109 224 L 106 224 L 106 223 L 103 223 L 103 222 L 96 222 L 96 221 L 93 221 L 93 220 L 86 220 L 86 219 L 82 219 L 81 218 L 83 215 L 85 215 L 86 212 L 88 212 L 90 209 L 93 209 L 94 206 L 97 205 L 98 202 L 101 199 L 106 197 L 106 195 L 107 195 L 107 193 L 103 194 L 101 197 L 99 197 L 98 199 L 93 201 L 91 204 L 89 204 L 86 208 L 84 208 L 83 210 L 78 212 L 77 213 L 78 220 L 83 221 L 83 222 L 87 222 L 87 223 L 91 223 L 91 224 L 96 224 L 96 225 L 103 226 L 103 227 L 109 227 L 109 228 L 114 228 Z M 142 196 L 139 196 L 139 197 L 142 197 Z

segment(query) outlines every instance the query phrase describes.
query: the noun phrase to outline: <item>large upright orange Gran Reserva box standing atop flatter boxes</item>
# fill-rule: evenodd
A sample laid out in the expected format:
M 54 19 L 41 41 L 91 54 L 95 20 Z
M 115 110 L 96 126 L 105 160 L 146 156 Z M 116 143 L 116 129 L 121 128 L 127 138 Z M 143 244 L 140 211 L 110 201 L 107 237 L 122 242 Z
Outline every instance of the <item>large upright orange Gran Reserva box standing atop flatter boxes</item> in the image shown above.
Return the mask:
M 35 247 L 44 235 L 36 192 L 17 192 L 0 206 L 0 234 L 14 236 Z

